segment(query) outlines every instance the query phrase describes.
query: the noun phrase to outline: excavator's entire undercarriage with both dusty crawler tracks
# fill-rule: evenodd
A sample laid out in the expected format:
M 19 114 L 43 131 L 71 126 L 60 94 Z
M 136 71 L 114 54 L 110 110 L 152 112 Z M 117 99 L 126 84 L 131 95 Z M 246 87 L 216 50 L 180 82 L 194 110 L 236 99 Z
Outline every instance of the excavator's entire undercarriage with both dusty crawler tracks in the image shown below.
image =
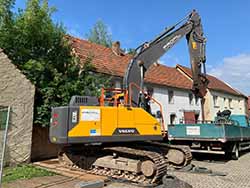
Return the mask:
M 77 150 L 69 148 L 59 154 L 59 162 L 72 170 L 83 170 L 140 186 L 159 184 L 168 167 L 182 168 L 188 165 L 191 159 L 189 147 L 158 142 L 134 144 L 133 147 L 87 147 L 87 150 L 86 147 Z

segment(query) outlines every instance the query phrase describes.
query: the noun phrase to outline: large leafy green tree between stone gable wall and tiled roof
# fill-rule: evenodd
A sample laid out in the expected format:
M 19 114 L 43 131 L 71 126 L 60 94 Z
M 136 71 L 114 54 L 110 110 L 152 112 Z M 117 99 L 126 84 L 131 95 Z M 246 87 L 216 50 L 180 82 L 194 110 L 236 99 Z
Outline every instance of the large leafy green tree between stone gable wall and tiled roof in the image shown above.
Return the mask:
M 51 19 L 55 8 L 47 0 L 28 0 L 14 16 L 11 6 L 0 8 L 3 15 L 10 12 L 10 26 L 0 25 L 0 47 L 36 86 L 35 124 L 48 125 L 50 108 L 67 105 L 72 95 L 98 95 L 108 79 L 93 73 L 91 57 L 80 67 L 65 29 Z

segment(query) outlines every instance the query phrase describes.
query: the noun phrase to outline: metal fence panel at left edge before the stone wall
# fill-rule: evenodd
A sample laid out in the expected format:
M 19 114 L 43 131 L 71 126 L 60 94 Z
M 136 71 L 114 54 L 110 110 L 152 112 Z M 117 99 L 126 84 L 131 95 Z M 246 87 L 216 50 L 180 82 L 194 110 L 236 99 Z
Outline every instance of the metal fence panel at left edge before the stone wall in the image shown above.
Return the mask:
M 0 188 L 2 185 L 4 157 L 7 144 L 10 107 L 0 107 Z

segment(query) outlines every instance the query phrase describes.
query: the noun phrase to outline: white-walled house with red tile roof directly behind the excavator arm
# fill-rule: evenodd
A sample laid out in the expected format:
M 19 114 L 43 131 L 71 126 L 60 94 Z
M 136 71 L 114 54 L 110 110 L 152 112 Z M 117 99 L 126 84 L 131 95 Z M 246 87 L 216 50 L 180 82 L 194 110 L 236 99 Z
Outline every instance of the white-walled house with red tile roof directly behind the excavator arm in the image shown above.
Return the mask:
M 96 73 L 109 75 L 114 88 L 122 87 L 123 76 L 133 56 L 120 53 L 116 51 L 117 48 L 107 48 L 72 36 L 67 38 L 80 63 L 84 64 L 86 59 L 91 57 Z M 191 92 L 192 79 L 177 67 L 161 64 L 151 66 L 145 75 L 145 87 L 161 103 L 166 124 L 187 121 L 190 113 L 192 118 L 201 119 L 200 99 L 195 98 Z M 153 113 L 159 110 L 158 105 L 154 103 L 151 107 Z

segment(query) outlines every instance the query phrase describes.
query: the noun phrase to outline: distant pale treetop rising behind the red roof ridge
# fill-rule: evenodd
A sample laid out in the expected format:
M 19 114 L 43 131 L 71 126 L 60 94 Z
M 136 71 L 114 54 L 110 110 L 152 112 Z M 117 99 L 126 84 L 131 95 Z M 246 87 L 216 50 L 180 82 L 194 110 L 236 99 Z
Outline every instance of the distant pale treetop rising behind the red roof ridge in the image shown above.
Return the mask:
M 90 42 L 100 44 L 106 47 L 112 46 L 112 36 L 108 32 L 108 27 L 101 20 L 98 20 L 94 27 L 86 35 Z

